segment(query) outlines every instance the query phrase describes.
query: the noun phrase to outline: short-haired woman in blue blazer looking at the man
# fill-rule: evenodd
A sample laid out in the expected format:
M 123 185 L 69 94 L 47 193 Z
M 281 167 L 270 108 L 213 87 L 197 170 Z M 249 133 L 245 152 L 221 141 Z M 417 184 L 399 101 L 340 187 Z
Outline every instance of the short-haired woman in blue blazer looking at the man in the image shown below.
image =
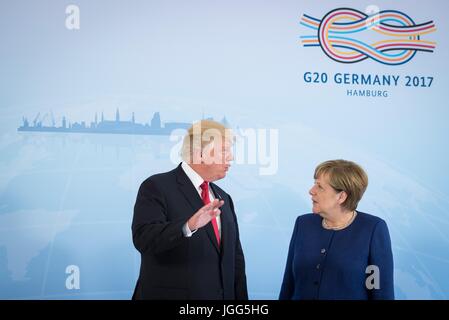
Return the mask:
M 354 162 L 330 160 L 314 179 L 313 213 L 296 219 L 279 299 L 394 299 L 387 224 L 356 210 L 366 173 Z

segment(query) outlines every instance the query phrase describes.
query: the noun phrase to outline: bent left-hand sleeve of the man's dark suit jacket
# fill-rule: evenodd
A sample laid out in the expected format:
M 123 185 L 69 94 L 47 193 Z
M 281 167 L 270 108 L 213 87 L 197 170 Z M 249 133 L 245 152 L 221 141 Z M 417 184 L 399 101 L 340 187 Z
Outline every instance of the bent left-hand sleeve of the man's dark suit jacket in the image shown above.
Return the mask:
M 133 243 L 140 253 L 163 253 L 180 245 L 185 238 L 185 219 L 169 221 L 165 197 L 157 183 L 148 179 L 142 183 L 134 205 Z

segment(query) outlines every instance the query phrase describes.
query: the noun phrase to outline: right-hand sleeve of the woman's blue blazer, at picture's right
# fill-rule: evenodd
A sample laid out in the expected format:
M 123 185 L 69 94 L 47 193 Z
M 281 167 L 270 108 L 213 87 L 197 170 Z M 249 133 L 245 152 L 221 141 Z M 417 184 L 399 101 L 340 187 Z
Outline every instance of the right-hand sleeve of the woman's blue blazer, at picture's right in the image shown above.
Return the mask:
M 369 264 L 379 268 L 379 288 L 369 290 L 370 298 L 373 300 L 393 300 L 393 253 L 388 227 L 383 220 L 379 221 L 374 228 Z

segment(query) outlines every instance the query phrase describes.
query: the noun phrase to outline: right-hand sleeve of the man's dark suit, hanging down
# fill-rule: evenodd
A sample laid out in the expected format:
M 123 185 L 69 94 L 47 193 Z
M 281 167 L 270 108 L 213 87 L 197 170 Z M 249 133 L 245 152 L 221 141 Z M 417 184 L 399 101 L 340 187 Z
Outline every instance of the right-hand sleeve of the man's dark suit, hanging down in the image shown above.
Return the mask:
M 235 243 L 235 279 L 234 291 L 236 300 L 248 300 L 248 289 L 246 285 L 245 273 L 245 257 L 243 255 L 242 244 L 240 243 L 239 226 L 237 223 L 237 216 L 234 211 L 234 203 L 228 195 L 229 205 L 231 206 L 232 214 L 235 221 L 235 230 L 237 233 L 237 240 Z

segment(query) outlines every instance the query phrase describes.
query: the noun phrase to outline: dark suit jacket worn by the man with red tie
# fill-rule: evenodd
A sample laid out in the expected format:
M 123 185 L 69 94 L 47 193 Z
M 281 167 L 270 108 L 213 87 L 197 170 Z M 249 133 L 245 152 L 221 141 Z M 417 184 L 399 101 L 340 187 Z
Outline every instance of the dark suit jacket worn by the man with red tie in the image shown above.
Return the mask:
M 211 223 L 192 237 L 182 233 L 203 202 L 181 165 L 142 183 L 132 223 L 134 246 L 141 253 L 133 299 L 248 299 L 232 199 L 217 185 L 210 187 L 224 200 L 220 248 Z

